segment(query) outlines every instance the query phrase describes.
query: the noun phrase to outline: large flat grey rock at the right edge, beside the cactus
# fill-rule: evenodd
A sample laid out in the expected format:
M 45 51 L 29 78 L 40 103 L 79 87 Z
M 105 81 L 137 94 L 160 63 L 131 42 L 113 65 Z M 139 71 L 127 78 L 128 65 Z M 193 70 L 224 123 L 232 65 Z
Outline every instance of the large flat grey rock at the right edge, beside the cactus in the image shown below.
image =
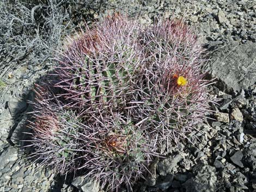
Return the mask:
M 208 65 L 208 70 L 221 81 L 218 86 L 222 90 L 247 89 L 256 82 L 255 55 L 256 43 L 239 45 L 237 41 L 230 41 L 212 55 L 214 61 Z

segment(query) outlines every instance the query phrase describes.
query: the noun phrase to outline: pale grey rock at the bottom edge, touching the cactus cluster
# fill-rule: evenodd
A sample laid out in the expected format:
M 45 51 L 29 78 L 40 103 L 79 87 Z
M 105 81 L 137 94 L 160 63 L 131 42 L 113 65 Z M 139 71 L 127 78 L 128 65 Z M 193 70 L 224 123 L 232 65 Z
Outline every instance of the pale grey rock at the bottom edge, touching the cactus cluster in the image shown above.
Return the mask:
M 99 183 L 95 183 L 89 177 L 76 177 L 71 184 L 83 192 L 99 192 L 100 190 Z

